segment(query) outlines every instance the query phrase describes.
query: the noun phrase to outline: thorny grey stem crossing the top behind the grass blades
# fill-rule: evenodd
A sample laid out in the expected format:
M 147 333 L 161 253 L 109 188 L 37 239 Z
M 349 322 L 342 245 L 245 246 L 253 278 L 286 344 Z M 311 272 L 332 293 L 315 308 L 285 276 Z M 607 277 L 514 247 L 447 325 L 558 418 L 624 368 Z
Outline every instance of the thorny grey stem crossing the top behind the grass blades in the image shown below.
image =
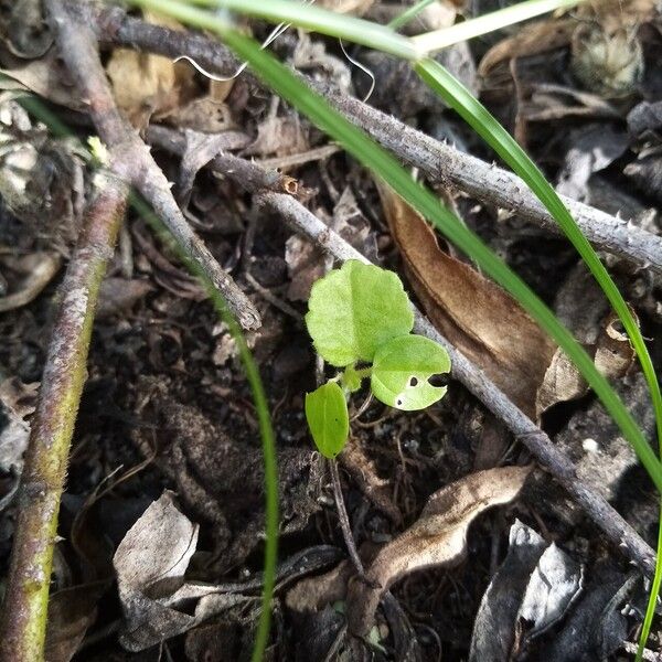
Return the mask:
M 173 58 L 186 55 L 218 74 L 236 68 L 231 52 L 212 39 L 149 25 L 117 9 L 89 9 L 86 15 L 102 41 Z M 248 72 L 244 75 L 249 76 Z M 329 84 L 309 83 L 357 126 L 433 181 L 452 184 L 485 204 L 511 210 L 523 220 L 560 233 L 556 222 L 519 177 L 439 142 L 385 113 L 340 94 Z M 597 248 L 662 274 L 662 237 L 569 197 L 562 196 L 562 200 Z

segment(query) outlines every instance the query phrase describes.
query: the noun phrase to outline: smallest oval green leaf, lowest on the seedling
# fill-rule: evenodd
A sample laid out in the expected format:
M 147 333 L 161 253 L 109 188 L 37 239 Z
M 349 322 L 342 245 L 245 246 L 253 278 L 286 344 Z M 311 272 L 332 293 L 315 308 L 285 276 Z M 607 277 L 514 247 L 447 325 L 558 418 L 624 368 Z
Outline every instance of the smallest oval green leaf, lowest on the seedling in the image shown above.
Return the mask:
M 306 419 L 318 450 L 325 458 L 334 458 L 350 435 L 348 403 L 335 382 L 306 394 Z

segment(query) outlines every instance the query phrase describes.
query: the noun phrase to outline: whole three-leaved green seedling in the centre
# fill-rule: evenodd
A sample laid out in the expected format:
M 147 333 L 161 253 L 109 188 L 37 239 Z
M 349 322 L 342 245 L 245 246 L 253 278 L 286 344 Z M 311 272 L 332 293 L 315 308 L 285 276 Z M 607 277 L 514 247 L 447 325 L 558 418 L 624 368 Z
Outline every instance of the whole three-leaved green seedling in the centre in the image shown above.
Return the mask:
M 412 303 L 396 274 L 348 260 L 312 286 L 306 325 L 318 354 L 342 369 L 306 394 L 306 419 L 318 450 L 334 458 L 350 434 L 348 398 L 370 377 L 385 405 L 414 412 L 446 394 L 430 377 L 450 370 L 448 352 L 414 335 Z M 360 366 L 357 364 L 361 364 Z

